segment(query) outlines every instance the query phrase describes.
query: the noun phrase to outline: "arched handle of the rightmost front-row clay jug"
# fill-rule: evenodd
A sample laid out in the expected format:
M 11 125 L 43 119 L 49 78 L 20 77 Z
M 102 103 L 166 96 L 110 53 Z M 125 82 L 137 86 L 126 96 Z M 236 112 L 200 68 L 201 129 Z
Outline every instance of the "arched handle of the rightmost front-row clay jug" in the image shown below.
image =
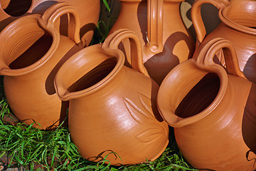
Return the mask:
M 228 73 L 245 78 L 245 75 L 240 71 L 234 46 L 230 41 L 223 38 L 214 38 L 206 43 L 198 54 L 198 58 L 196 59 L 197 63 L 201 63 L 205 66 L 218 65 L 213 61 L 213 58 L 220 49 L 223 50 L 223 56 L 225 58 Z

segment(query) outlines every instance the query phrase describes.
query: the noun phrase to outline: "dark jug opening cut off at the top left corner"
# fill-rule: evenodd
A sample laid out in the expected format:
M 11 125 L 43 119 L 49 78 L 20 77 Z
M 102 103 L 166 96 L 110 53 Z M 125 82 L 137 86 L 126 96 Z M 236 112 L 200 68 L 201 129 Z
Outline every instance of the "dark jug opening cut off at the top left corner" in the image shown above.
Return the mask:
M 31 8 L 32 0 L 0 0 L 1 8 L 10 16 L 22 16 Z

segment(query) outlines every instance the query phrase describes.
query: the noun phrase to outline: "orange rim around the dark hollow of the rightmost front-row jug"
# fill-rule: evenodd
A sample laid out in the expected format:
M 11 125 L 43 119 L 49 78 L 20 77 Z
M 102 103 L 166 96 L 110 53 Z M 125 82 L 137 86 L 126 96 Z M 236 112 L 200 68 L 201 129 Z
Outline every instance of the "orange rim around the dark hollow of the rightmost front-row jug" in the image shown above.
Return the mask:
M 183 63 L 176 66 L 167 76 L 164 78 L 164 81 L 161 83 L 161 86 L 159 88 L 159 93 L 157 95 L 157 106 L 159 108 L 159 113 L 162 115 L 164 120 L 166 120 L 166 123 L 171 125 L 174 128 L 181 128 L 185 125 L 191 125 L 193 123 L 196 123 L 203 118 L 206 118 L 210 113 L 217 108 L 217 106 L 220 104 L 221 100 L 223 100 L 225 91 L 228 87 L 228 75 L 224 68 L 221 66 L 200 66 L 198 63 L 195 62 L 196 59 L 191 58 L 187 61 L 184 61 Z M 195 115 L 189 116 L 188 118 L 181 118 L 178 115 L 174 113 L 176 110 L 175 108 L 171 108 L 169 103 L 166 103 L 166 97 L 168 97 L 171 93 L 169 91 L 169 86 L 174 85 L 175 78 L 179 77 L 178 80 L 181 80 L 181 74 L 184 76 L 186 74 L 182 73 L 181 67 L 186 69 L 186 65 L 193 65 L 196 68 L 199 68 L 202 71 L 205 71 L 206 73 L 215 73 L 216 76 L 220 79 L 220 87 L 218 90 L 218 94 L 215 96 L 214 100 L 208 105 L 207 108 L 202 110 L 199 113 L 196 113 Z M 186 84 L 186 83 L 183 83 Z M 178 84 L 176 86 L 181 86 L 181 84 Z

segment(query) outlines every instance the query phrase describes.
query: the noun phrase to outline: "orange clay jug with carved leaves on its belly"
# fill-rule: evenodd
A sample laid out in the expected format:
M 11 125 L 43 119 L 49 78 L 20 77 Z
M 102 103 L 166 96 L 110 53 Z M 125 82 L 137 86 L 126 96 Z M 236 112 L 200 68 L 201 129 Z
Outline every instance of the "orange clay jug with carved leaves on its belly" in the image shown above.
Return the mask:
M 117 49 L 124 38 L 131 43 L 133 69 L 124 66 L 124 53 Z M 139 38 L 126 29 L 61 66 L 55 89 L 70 101 L 70 136 L 82 157 L 127 165 L 155 160 L 164 152 L 169 128 L 156 107 L 159 86 L 142 73 L 147 75 Z

